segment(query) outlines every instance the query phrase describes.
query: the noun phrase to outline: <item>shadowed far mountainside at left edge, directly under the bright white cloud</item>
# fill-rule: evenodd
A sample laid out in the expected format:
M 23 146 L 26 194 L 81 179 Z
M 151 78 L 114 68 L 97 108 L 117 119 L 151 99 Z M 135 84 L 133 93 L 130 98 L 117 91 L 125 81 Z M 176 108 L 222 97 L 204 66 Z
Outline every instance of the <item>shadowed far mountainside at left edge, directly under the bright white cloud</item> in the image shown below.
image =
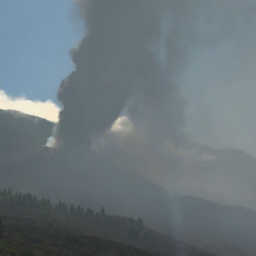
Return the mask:
M 18 111 L 0 109 L 0 163 L 14 161 L 46 144 L 53 123 Z

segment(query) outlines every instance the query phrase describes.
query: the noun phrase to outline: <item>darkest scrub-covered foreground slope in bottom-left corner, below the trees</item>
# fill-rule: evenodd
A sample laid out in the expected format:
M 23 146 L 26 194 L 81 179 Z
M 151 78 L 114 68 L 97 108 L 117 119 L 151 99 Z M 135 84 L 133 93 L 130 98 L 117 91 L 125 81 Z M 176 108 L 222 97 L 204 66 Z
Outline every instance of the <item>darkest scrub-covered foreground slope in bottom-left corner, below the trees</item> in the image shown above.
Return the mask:
M 71 234 L 50 225 L 22 223 L 17 219 L 8 222 L 6 229 L 5 242 L 0 244 L 0 255 L 5 256 L 156 256 L 145 250 L 117 242 L 82 234 Z

